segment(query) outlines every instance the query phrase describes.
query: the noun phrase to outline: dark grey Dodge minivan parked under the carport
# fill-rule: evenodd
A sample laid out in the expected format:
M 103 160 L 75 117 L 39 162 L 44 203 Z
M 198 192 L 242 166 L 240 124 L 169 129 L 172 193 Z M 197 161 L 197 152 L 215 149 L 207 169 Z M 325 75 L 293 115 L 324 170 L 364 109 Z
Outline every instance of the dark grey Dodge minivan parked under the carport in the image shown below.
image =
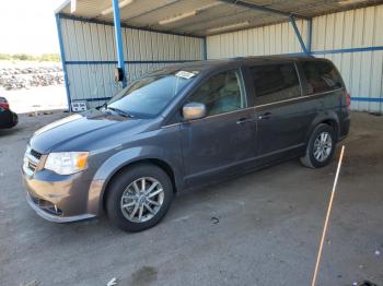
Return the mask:
M 325 59 L 167 67 L 36 131 L 22 167 L 27 202 L 51 222 L 106 212 L 121 229 L 143 230 L 181 190 L 292 158 L 326 166 L 348 133 L 349 104 Z

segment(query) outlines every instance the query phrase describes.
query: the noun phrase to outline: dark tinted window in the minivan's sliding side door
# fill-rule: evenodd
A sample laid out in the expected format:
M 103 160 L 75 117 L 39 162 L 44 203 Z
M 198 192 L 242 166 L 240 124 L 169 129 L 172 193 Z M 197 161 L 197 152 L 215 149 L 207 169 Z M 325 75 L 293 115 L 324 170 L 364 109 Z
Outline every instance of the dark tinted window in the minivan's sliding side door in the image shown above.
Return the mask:
M 265 105 L 301 96 L 293 63 L 256 65 L 249 68 L 255 88 L 255 104 Z

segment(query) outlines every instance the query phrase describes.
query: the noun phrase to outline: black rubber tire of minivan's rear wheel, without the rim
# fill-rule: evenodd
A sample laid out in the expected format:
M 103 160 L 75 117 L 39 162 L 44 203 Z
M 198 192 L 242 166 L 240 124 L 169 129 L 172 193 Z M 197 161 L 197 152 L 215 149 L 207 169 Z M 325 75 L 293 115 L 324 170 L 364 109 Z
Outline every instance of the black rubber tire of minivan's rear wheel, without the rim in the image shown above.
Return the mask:
M 323 132 L 327 132 L 330 135 L 333 145 L 332 145 L 332 151 L 330 151 L 328 157 L 325 160 L 320 162 L 314 156 L 314 142 L 315 142 L 316 138 Z M 333 159 L 335 147 L 336 147 L 336 136 L 335 136 L 334 129 L 327 124 L 317 126 L 310 138 L 310 142 L 309 142 L 309 146 L 307 146 L 307 154 L 310 157 L 311 165 L 314 168 L 322 168 L 324 166 L 327 166 L 329 164 L 329 162 Z

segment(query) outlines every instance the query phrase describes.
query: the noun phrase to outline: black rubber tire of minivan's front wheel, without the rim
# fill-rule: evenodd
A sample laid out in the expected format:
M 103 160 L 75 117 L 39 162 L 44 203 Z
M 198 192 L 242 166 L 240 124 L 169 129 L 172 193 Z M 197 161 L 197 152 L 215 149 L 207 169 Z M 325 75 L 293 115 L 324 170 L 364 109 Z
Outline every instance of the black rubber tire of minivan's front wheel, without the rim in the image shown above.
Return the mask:
M 126 188 L 141 177 L 152 177 L 160 181 L 164 190 L 164 201 L 160 211 L 148 222 L 135 223 L 128 221 L 121 210 L 120 200 Z M 174 193 L 172 182 L 162 169 L 152 165 L 137 165 L 117 176 L 109 190 L 106 202 L 106 211 L 109 219 L 120 229 L 126 231 L 141 231 L 155 226 L 166 214 L 172 203 Z

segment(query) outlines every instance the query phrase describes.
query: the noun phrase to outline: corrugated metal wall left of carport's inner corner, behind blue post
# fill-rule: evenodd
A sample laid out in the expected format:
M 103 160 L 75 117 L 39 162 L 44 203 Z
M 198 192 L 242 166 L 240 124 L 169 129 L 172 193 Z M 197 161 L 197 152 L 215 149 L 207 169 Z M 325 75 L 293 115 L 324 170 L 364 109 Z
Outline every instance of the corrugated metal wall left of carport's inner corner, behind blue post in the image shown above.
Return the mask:
M 114 81 L 116 48 L 112 25 L 61 19 L 71 100 L 98 106 L 121 87 Z M 128 82 L 176 61 L 201 60 L 204 39 L 123 28 Z M 98 100 L 97 100 L 98 99 Z

